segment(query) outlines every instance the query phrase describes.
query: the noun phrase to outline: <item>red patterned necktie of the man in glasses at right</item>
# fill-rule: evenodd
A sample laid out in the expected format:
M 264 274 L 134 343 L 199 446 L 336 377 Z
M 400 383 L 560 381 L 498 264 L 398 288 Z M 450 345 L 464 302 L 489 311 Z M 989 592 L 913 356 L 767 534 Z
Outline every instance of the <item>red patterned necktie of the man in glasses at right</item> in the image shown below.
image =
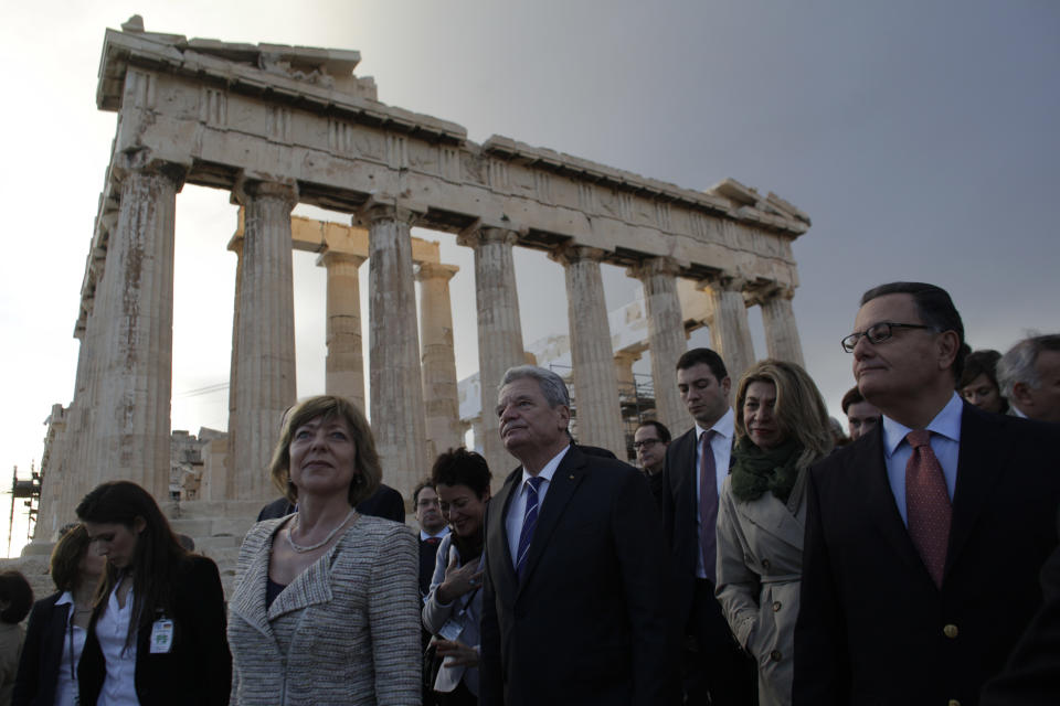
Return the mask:
M 913 454 L 905 464 L 905 514 L 909 536 L 935 586 L 942 588 L 946 565 L 950 521 L 953 507 L 946 491 L 942 464 L 931 449 L 931 432 L 925 429 L 905 435 Z

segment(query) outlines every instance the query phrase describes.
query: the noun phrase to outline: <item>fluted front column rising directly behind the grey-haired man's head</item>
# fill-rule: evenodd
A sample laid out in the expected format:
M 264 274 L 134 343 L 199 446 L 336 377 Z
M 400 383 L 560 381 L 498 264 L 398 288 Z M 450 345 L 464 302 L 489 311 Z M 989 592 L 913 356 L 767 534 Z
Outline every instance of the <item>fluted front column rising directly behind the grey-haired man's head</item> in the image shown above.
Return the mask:
M 473 426 L 475 445 L 494 472 L 495 481 L 515 466 L 500 440 L 495 413 L 497 387 L 505 371 L 522 365 L 522 323 L 516 291 L 516 264 L 512 246 L 517 235 L 501 228 L 477 228 L 463 233 L 457 243 L 475 248 L 475 302 L 478 310 L 478 383 L 483 413 L 480 425 Z M 499 488 L 499 485 L 497 485 Z

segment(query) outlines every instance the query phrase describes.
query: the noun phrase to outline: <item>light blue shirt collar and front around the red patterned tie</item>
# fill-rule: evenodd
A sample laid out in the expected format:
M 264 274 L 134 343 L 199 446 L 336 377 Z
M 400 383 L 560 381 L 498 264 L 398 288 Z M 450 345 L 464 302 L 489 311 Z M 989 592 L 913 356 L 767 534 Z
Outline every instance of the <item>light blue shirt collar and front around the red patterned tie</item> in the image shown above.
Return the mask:
M 935 452 L 942 474 L 946 479 L 946 492 L 950 502 L 953 502 L 953 492 L 957 486 L 957 454 L 961 451 L 961 415 L 964 403 L 956 393 L 946 403 L 934 419 L 925 428 L 931 431 L 931 450 Z M 909 427 L 883 417 L 883 461 L 887 466 L 887 480 L 891 484 L 894 504 L 902 522 L 909 526 L 909 515 L 905 513 L 905 466 L 913 456 L 913 447 L 909 446 L 905 435 L 912 431 Z

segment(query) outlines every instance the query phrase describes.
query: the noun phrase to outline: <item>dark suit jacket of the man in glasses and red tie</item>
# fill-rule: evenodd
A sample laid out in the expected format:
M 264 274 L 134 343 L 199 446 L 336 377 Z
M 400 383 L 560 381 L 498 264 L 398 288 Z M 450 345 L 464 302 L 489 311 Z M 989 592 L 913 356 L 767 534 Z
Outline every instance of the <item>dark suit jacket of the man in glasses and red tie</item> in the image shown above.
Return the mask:
M 978 703 L 1041 603 L 1058 432 L 964 405 L 941 590 L 894 504 L 882 426 L 810 469 L 794 704 Z

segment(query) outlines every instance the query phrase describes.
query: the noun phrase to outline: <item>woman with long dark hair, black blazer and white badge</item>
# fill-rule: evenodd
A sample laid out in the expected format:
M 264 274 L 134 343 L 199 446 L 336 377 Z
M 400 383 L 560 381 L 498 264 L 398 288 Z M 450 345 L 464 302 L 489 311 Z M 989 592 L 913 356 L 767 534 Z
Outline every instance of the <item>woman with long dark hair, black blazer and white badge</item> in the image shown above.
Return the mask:
M 77 668 L 81 704 L 227 704 L 232 655 L 216 565 L 181 547 L 136 483 L 99 485 L 77 505 L 107 569 Z

